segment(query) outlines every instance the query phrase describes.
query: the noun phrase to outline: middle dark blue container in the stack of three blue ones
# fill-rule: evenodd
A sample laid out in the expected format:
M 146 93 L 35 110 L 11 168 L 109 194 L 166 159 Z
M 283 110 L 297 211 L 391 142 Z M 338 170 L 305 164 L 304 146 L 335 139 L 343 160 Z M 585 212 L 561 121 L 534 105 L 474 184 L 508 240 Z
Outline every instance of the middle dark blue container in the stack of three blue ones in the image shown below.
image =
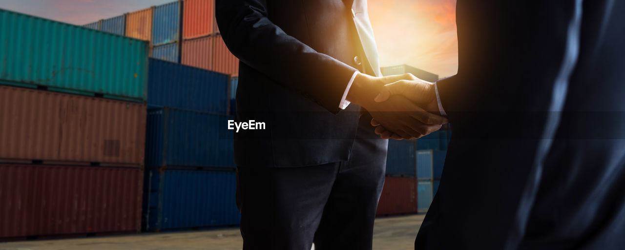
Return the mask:
M 231 116 L 159 108 L 148 110 L 146 167 L 234 167 Z

